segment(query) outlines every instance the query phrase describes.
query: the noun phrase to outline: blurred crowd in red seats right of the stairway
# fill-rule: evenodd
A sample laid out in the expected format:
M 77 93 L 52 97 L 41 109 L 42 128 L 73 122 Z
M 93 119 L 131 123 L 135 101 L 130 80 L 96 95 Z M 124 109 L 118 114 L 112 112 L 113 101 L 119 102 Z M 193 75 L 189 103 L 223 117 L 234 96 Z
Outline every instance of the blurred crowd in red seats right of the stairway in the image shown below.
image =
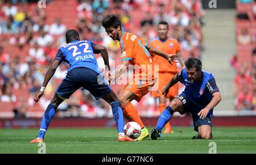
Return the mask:
M 234 108 L 237 111 L 256 110 L 256 1 L 237 2 L 237 54 L 230 64 L 234 77 Z

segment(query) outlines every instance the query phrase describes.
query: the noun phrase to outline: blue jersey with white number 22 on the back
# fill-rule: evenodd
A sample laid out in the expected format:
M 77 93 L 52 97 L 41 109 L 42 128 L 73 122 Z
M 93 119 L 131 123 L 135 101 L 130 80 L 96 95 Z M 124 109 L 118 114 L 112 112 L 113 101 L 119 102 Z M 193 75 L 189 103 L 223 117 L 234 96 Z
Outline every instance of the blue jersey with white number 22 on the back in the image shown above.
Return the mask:
M 55 60 L 67 62 L 70 66 L 68 72 L 76 67 L 88 67 L 101 74 L 93 53 L 94 45 L 86 40 L 72 41 L 58 50 Z

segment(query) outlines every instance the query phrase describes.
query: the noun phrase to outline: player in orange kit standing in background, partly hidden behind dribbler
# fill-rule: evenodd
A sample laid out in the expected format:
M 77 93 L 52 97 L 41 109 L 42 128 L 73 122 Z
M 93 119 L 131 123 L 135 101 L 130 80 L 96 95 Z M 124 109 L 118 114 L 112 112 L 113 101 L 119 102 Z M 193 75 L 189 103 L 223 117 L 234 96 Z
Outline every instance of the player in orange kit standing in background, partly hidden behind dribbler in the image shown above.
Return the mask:
M 179 62 L 182 67 L 184 67 L 184 60 L 181 58 L 180 55 L 180 45 L 177 42 L 176 39 L 173 39 L 171 37 L 168 37 L 168 23 L 167 22 L 159 22 L 157 27 L 157 33 L 158 37 L 155 39 L 152 39 L 148 45 L 154 46 L 157 49 L 162 50 L 163 52 L 166 52 L 167 54 L 177 54 L 179 56 Z M 155 54 L 150 53 L 154 64 L 159 65 L 159 74 L 158 74 L 158 89 L 155 91 L 152 91 L 152 96 L 155 98 L 155 103 L 157 105 L 157 99 L 159 99 L 158 109 L 160 113 L 163 112 L 164 108 L 166 108 L 166 101 L 167 99 L 174 99 L 178 94 L 178 84 L 176 83 L 174 86 L 172 86 L 168 92 L 167 96 L 164 96 L 162 94 L 162 88 L 165 86 L 174 75 L 177 74 L 177 65 L 174 63 L 173 65 L 169 64 L 169 62 L 166 60 L 166 58 L 155 56 Z M 170 125 L 170 122 L 167 122 L 167 124 L 164 126 L 164 132 L 163 133 L 172 133 L 172 127 Z

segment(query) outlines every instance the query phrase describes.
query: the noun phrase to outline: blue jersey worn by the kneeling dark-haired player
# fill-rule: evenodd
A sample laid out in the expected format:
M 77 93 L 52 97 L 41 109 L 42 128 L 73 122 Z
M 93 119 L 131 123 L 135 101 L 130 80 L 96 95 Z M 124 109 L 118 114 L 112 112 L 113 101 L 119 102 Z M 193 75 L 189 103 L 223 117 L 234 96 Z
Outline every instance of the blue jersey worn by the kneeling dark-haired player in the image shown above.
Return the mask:
M 183 94 L 187 96 L 192 104 L 200 107 L 201 109 L 205 108 L 210 103 L 214 92 L 219 91 L 213 75 L 205 70 L 202 70 L 202 72 L 203 79 L 200 82 L 189 81 L 188 74 L 185 69 L 181 70 L 177 75 L 179 81 L 185 85 Z

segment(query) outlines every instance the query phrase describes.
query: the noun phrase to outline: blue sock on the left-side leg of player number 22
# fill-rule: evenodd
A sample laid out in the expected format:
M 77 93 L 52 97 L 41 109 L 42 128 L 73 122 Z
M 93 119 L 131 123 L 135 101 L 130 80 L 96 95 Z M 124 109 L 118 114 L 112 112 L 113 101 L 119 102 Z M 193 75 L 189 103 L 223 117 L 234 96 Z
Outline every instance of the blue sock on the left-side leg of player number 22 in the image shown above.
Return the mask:
M 56 107 L 53 104 L 49 104 L 48 107 L 46 108 L 46 112 L 44 112 L 44 116 L 41 122 L 38 138 L 44 138 L 44 134 L 46 134 L 46 131 L 52 120 L 52 117 L 55 115 L 55 110 L 56 110 Z

